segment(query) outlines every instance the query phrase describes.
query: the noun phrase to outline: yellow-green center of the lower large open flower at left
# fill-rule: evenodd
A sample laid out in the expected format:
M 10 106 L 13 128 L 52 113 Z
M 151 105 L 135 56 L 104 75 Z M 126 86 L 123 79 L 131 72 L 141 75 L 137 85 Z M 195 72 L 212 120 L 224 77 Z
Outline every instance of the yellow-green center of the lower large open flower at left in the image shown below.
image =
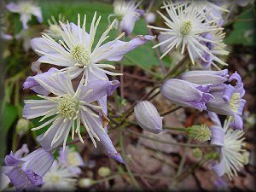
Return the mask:
M 79 101 L 72 96 L 64 96 L 60 99 L 58 113 L 64 119 L 76 119 L 79 113 Z

